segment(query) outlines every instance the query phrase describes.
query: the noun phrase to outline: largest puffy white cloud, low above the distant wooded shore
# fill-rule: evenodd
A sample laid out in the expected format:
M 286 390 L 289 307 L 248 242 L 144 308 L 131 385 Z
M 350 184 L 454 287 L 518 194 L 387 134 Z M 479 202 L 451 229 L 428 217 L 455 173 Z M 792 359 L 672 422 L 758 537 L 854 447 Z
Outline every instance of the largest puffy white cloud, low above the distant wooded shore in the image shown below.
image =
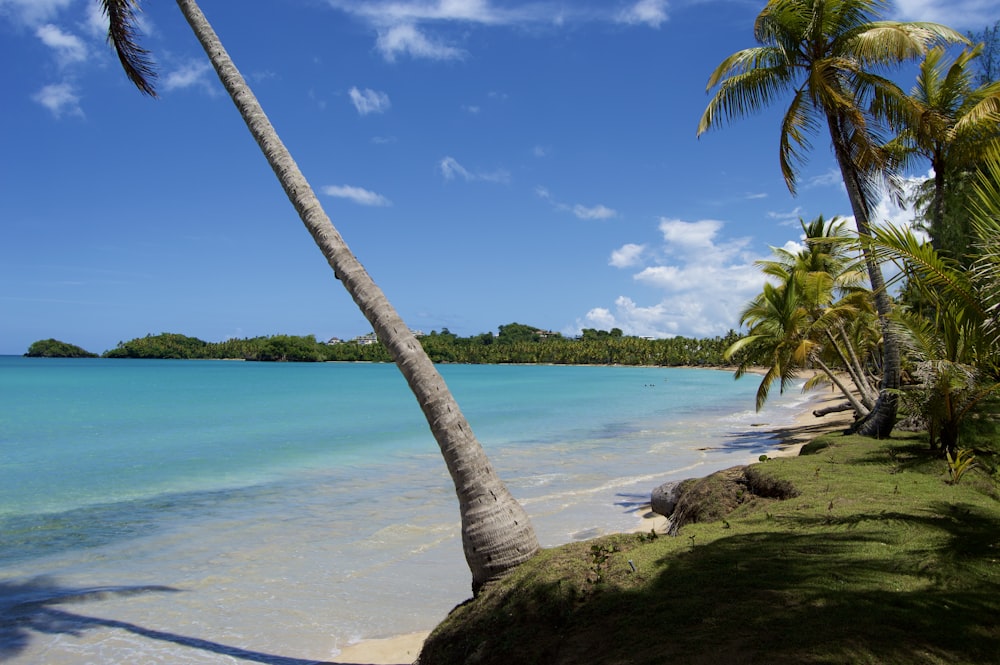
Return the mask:
M 635 283 L 658 295 L 641 303 L 622 294 L 613 307 L 592 308 L 578 325 L 644 337 L 711 337 L 735 329 L 764 277 L 754 265 L 761 257 L 747 249 L 749 239 L 724 238 L 724 228 L 718 220 L 662 218 L 659 243 L 623 245 L 609 260 L 632 269 Z

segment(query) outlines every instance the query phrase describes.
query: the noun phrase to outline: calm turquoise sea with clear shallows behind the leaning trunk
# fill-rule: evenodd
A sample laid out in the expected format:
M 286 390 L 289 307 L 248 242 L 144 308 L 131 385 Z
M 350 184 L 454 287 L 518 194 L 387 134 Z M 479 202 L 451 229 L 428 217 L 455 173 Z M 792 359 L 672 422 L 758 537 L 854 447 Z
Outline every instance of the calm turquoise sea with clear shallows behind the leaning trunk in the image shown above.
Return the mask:
M 441 372 L 543 545 L 755 459 L 793 390 L 630 367 Z M 335 660 L 469 596 L 457 504 L 392 365 L 0 357 L 0 661 Z

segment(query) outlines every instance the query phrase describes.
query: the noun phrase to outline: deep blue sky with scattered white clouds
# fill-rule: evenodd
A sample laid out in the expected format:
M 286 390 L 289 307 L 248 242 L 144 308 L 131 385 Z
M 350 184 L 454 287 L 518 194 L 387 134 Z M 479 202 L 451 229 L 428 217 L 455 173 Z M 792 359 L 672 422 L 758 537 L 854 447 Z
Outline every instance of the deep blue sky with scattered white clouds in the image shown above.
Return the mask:
M 175 3 L 141 5 L 156 100 L 97 6 L 0 0 L 0 353 L 368 332 Z M 760 289 L 755 259 L 797 240 L 799 217 L 849 213 L 823 137 L 788 193 L 783 108 L 695 136 L 708 75 L 754 44 L 762 6 L 201 2 L 404 320 L 463 336 L 725 334 Z M 906 0 L 890 16 L 964 31 L 1000 11 Z

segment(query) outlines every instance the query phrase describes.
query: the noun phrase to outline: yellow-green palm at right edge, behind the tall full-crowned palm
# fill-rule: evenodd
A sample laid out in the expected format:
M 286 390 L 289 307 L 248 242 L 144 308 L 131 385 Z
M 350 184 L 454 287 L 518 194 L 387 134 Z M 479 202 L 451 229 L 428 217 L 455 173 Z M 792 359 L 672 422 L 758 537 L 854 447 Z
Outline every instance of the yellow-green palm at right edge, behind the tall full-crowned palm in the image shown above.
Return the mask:
M 925 217 L 931 238 L 937 249 L 944 248 L 959 261 L 968 252 L 970 231 L 965 211 L 947 214 L 945 209 L 949 189 L 958 184 L 951 181 L 974 170 L 1000 145 L 1000 82 L 979 87 L 973 83 L 972 63 L 982 50 L 983 44 L 977 44 L 950 63 L 941 46 L 927 52 L 910 91 L 911 119 L 889 144 L 904 165 L 918 158 L 930 162 L 934 177 L 928 181 Z

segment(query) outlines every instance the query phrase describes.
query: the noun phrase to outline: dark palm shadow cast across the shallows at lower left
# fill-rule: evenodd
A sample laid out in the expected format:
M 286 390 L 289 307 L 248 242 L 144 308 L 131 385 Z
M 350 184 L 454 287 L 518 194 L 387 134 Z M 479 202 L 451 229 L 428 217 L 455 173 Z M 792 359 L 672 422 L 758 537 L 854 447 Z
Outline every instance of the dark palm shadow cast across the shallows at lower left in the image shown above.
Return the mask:
M 180 593 L 169 586 L 104 586 L 72 589 L 61 586 L 51 577 L 36 577 L 27 582 L 0 582 L 0 662 L 15 658 L 31 642 L 32 635 L 70 635 L 79 637 L 99 629 L 122 630 L 146 639 L 178 644 L 190 649 L 229 656 L 265 665 L 337 665 L 330 661 L 292 658 L 251 651 L 198 637 L 178 635 L 127 621 L 92 617 L 61 609 L 108 598 L 147 593 Z

